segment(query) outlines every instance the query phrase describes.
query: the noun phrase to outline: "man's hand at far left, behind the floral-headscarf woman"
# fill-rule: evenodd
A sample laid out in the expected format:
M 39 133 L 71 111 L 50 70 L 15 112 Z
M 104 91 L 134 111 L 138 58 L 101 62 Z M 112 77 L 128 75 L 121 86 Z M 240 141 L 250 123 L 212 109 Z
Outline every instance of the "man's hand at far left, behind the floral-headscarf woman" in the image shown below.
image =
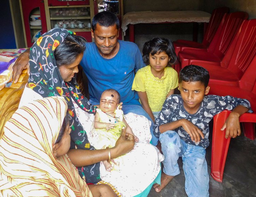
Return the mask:
M 16 59 L 16 62 L 12 66 L 12 80 L 13 83 L 17 83 L 21 72 L 23 69 L 28 69 L 27 73 L 29 75 L 29 51 L 30 48 L 20 54 L 20 56 Z

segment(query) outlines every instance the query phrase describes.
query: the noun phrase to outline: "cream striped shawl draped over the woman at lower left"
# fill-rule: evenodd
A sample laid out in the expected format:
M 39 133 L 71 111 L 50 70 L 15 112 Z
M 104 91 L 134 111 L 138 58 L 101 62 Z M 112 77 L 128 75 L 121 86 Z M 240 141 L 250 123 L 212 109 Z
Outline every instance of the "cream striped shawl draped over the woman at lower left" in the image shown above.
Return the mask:
M 89 196 L 92 194 L 67 155 L 53 155 L 66 115 L 62 97 L 19 108 L 0 140 L 0 196 Z

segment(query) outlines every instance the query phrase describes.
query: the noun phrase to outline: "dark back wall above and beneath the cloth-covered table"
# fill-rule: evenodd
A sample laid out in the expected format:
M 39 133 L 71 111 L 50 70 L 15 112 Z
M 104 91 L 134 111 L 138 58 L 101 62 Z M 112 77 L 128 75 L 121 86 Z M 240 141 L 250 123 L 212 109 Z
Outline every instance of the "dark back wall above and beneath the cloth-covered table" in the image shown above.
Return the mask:
M 123 4 L 124 14 L 132 11 L 203 10 L 203 0 L 123 0 Z M 177 39 L 192 40 L 192 29 L 192 23 L 136 24 L 135 43 L 142 50 L 143 44 L 153 37 L 165 37 L 172 41 Z M 129 40 L 128 30 L 126 30 L 126 34 L 125 40 Z M 202 40 L 202 34 L 200 34 L 199 40 Z

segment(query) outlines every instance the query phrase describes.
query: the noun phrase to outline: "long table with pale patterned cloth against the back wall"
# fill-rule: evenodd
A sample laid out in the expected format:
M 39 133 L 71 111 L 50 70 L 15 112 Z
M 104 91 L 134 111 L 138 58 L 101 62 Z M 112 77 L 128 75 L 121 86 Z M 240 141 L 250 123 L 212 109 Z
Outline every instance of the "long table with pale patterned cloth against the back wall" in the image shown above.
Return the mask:
M 204 23 L 204 31 L 211 14 L 203 11 L 142 11 L 127 12 L 123 17 L 122 30 L 125 35 L 129 25 L 129 39 L 134 42 L 134 25 L 139 23 L 194 23 L 193 41 L 197 41 L 198 23 Z

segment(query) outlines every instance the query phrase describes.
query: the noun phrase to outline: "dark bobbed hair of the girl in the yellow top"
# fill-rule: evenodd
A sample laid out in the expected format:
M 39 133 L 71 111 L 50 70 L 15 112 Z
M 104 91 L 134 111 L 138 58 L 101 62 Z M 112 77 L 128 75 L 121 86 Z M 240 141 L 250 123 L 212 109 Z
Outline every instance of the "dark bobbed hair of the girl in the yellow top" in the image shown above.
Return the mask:
M 175 54 L 171 40 L 158 37 L 155 37 L 145 42 L 142 49 L 144 62 L 149 65 L 149 54 L 155 55 L 163 51 L 166 52 L 166 54 L 170 58 L 168 66 L 172 66 L 173 64 L 175 64 L 175 62 L 177 61 L 177 56 Z

